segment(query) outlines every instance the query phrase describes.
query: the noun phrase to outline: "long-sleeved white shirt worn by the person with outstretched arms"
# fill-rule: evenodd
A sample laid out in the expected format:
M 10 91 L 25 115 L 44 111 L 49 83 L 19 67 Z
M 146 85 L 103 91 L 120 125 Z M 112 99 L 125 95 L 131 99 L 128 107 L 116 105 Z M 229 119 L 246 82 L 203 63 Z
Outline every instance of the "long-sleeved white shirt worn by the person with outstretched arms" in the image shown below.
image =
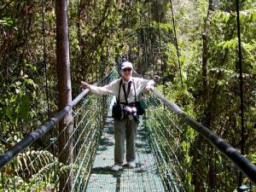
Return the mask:
M 119 102 L 125 102 L 125 93 L 124 93 L 122 84 L 121 84 L 120 95 L 119 95 L 120 80 L 121 79 L 113 80 L 113 82 L 111 82 L 110 84 L 107 84 L 102 87 L 90 85 L 89 89 L 91 92 L 100 94 L 100 95 L 113 95 L 113 96 L 116 96 L 117 98 L 119 96 Z M 142 92 L 146 86 L 154 86 L 154 80 L 135 78 L 135 77 L 131 77 L 128 82 L 125 82 L 123 80 L 123 84 L 125 84 L 126 95 L 128 90 L 128 83 L 131 81 L 131 90 L 127 97 L 128 103 L 135 102 L 135 91 L 134 91 L 134 85 L 132 83 L 132 80 L 134 81 L 134 84 L 135 84 L 136 96 L 138 96 L 138 94 Z

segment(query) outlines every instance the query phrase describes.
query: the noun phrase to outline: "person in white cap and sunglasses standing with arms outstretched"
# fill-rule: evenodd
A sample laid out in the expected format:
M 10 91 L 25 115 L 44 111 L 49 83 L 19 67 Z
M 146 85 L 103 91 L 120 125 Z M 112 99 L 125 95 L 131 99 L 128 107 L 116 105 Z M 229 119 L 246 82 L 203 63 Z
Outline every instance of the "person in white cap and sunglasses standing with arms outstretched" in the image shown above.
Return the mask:
M 81 81 L 84 89 L 90 89 L 91 92 L 101 95 L 113 95 L 118 97 L 122 108 L 134 108 L 136 96 L 142 92 L 149 92 L 154 86 L 153 80 L 132 77 L 132 64 L 124 61 L 121 65 L 122 78 L 113 80 L 110 84 L 102 87 L 87 84 Z M 128 110 L 128 109 L 127 109 Z M 130 168 L 136 167 L 135 163 L 135 140 L 137 137 L 137 120 L 134 114 L 130 113 L 122 119 L 114 119 L 114 165 L 111 170 L 118 172 L 122 169 L 125 153 L 126 139 L 126 161 Z

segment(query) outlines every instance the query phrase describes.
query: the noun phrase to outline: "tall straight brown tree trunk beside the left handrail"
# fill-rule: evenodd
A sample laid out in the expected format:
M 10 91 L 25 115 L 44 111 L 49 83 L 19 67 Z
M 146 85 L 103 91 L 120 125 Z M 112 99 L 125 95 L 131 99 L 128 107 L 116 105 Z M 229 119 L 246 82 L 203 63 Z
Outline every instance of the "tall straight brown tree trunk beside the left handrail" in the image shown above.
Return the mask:
M 67 0 L 58 0 L 56 3 L 56 59 L 57 59 L 57 76 L 59 90 L 59 110 L 72 101 L 71 79 L 70 79 L 70 63 L 69 63 L 69 41 L 67 26 Z M 72 131 L 73 125 L 71 112 L 61 120 L 59 124 L 60 140 L 59 151 L 61 152 L 59 160 L 64 165 L 72 166 L 73 164 L 73 141 Z M 67 128 L 66 128 L 67 127 Z M 67 146 L 65 147 L 65 145 Z M 60 190 L 70 191 L 72 187 L 73 173 L 61 172 Z

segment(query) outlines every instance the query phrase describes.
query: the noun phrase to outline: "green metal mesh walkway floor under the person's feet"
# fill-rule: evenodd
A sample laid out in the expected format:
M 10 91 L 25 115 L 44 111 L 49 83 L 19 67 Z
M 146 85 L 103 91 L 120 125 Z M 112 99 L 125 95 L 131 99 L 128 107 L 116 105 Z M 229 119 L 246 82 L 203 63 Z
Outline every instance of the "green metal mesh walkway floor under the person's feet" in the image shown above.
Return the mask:
M 146 139 L 143 124 L 137 131 L 137 167 L 129 169 L 124 166 L 121 172 L 112 172 L 113 165 L 113 119 L 108 118 L 104 127 L 96 160 L 90 173 L 86 191 L 97 192 L 161 192 L 164 187 L 157 173 L 156 161 Z

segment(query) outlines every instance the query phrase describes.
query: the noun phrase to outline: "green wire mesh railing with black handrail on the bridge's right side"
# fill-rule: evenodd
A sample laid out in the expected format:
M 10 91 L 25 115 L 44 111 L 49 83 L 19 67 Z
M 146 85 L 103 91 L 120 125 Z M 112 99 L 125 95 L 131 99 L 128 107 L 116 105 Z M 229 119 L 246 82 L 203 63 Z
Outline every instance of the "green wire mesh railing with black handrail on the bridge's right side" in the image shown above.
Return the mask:
M 145 126 L 166 191 L 256 191 L 256 166 L 157 90 Z M 238 186 L 239 172 L 244 172 Z

